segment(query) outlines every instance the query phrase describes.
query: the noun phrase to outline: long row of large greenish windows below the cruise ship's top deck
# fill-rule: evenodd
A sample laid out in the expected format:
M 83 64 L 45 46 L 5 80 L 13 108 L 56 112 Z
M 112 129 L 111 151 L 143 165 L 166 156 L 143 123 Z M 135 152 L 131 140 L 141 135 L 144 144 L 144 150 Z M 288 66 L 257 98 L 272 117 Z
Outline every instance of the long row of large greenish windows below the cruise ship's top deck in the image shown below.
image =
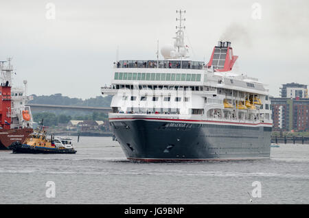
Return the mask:
M 115 80 L 190 81 L 200 82 L 201 74 L 194 73 L 115 73 Z

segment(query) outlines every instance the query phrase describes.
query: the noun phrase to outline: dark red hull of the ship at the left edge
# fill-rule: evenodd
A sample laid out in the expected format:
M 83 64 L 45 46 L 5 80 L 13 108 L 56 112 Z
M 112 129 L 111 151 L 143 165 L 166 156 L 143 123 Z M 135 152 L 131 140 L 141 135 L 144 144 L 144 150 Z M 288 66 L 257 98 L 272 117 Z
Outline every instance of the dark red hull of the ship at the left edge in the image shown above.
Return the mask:
M 23 143 L 32 132 L 32 128 L 0 130 L 0 149 L 8 149 L 16 141 Z

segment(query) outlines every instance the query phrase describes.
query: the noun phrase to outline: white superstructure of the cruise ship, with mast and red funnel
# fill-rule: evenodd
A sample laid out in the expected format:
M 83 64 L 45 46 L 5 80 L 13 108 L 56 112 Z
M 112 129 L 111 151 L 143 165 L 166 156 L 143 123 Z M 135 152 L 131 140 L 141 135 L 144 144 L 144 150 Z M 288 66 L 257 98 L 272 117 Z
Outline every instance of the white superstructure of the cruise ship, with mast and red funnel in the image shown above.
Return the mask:
M 233 56 L 231 43 L 218 43 L 211 65 L 192 61 L 184 44 L 182 11 L 178 20 L 174 46 L 161 49 L 164 60 L 115 63 L 111 86 L 101 89 L 102 94 L 113 95 L 110 117 L 138 114 L 272 123 L 268 90 L 258 79 L 232 69 L 237 56 Z

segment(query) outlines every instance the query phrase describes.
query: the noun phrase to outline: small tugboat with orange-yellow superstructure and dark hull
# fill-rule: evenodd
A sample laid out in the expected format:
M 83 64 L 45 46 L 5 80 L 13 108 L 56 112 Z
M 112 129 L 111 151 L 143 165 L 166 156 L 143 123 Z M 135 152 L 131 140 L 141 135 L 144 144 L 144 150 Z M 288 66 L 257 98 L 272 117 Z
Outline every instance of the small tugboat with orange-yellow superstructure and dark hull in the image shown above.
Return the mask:
M 76 150 L 69 139 L 54 138 L 53 135 L 47 138 L 47 132 L 44 130 L 43 121 L 41 125 L 34 130 L 24 143 L 14 142 L 9 147 L 13 154 L 76 154 Z

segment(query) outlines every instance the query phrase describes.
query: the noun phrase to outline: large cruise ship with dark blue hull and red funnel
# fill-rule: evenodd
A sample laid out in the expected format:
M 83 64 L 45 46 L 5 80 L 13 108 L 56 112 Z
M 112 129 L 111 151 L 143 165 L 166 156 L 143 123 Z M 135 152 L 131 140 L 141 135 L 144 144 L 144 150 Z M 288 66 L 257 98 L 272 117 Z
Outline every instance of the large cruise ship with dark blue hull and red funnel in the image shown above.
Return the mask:
M 208 63 L 190 60 L 185 11 L 163 60 L 119 60 L 108 120 L 130 160 L 244 160 L 270 157 L 271 101 L 254 77 L 233 69 L 238 56 L 219 41 Z M 159 49 L 158 49 L 159 50 Z

